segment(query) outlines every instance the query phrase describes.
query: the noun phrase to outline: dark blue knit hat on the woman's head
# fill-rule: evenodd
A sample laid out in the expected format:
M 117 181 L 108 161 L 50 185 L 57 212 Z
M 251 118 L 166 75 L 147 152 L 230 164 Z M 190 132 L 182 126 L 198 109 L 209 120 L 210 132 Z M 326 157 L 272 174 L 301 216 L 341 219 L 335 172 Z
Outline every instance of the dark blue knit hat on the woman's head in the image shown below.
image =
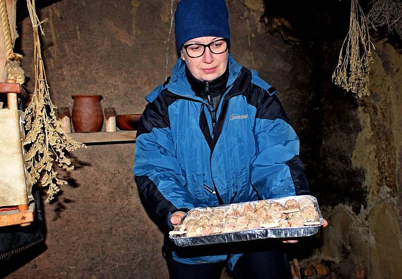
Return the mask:
M 174 13 L 177 51 L 188 40 L 216 36 L 230 47 L 229 13 L 225 0 L 181 0 Z

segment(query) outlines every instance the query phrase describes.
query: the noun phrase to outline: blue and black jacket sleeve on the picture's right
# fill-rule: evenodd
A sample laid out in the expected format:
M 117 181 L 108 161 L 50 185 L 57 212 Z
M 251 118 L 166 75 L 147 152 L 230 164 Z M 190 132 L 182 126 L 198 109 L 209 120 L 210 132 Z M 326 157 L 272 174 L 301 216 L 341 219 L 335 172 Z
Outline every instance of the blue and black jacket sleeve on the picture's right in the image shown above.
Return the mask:
M 256 155 L 250 166 L 251 183 L 261 199 L 311 195 L 299 140 L 276 94 L 254 91 Z

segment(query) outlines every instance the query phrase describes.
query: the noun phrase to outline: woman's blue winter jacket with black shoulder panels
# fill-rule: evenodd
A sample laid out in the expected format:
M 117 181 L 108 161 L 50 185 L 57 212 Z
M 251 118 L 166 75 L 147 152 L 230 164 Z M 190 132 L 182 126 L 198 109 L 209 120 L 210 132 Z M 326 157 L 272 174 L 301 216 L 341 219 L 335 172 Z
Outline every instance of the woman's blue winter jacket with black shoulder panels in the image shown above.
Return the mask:
M 146 97 L 149 104 L 138 127 L 134 174 L 145 208 L 166 231 L 175 211 L 310 195 L 297 156 L 299 141 L 276 90 L 230 54 L 228 67 L 228 89 L 216 111 L 214 133 L 214 108 L 195 96 L 181 59 L 170 81 Z M 183 263 L 228 257 L 172 254 Z M 230 257 L 230 267 L 239 256 Z

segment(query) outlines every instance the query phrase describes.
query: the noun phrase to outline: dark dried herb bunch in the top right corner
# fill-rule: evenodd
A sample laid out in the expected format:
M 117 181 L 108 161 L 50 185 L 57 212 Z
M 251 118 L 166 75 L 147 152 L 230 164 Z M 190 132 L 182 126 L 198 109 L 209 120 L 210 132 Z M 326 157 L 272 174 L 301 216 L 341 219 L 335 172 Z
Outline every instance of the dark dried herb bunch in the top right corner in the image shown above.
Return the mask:
M 402 38 L 402 0 L 374 0 L 367 21 L 374 28 L 386 25 L 389 33 L 395 31 Z

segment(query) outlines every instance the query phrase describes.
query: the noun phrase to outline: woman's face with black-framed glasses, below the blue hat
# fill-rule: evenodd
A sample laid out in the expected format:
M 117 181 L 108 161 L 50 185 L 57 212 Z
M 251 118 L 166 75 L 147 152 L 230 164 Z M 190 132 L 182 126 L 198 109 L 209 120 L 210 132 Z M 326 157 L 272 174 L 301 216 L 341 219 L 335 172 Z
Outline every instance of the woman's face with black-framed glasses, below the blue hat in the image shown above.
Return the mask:
M 212 41 L 223 39 L 221 37 L 199 37 L 191 39 L 184 45 L 192 43 L 209 44 Z M 184 60 L 191 74 L 198 80 L 211 81 L 221 76 L 228 66 L 228 51 L 215 54 L 206 47 L 202 56 L 192 58 L 187 55 L 187 52 L 181 48 L 181 59 Z

